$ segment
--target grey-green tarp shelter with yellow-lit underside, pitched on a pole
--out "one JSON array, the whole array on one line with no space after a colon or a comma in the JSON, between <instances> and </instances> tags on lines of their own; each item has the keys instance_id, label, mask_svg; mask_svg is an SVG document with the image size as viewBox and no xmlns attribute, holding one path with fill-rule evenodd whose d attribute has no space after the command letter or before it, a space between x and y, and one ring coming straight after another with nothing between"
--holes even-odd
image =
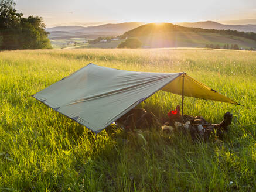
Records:
<instances>
[{"instance_id":1,"label":"grey-green tarp shelter with yellow-lit underside, pitched on a pole","mask_svg":"<svg viewBox=\"0 0 256 192\"><path fill-rule=\"evenodd\" d=\"M148 73L88 64L33 97L95 133L156 91L238 104L186 73Z\"/></svg>"}]
</instances>

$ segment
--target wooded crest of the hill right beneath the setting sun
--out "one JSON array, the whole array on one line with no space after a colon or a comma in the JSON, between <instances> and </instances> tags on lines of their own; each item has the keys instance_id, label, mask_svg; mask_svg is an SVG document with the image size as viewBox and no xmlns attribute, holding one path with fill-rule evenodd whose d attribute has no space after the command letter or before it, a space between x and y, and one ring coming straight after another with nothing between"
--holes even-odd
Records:
<instances>
[{"instance_id":1,"label":"wooded crest of the hill right beneath the setting sun","mask_svg":"<svg viewBox=\"0 0 256 192\"><path fill-rule=\"evenodd\" d=\"M172 23L150 23L139 26L138 28L129 30L120 36L121 39L126 37L144 37L153 33L168 33L168 32L194 32L194 33L219 33L222 35L234 35L256 40L256 33L253 32L238 32L237 30L218 30L218 29L202 29L202 28L187 28Z\"/></svg>"}]
</instances>

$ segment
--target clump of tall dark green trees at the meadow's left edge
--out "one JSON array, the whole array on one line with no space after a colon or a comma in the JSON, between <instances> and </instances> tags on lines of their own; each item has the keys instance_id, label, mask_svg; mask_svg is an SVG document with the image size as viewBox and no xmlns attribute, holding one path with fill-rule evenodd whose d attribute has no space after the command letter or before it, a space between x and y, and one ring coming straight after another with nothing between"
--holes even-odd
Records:
<instances>
[{"instance_id":1,"label":"clump of tall dark green trees at the meadow's left edge","mask_svg":"<svg viewBox=\"0 0 256 192\"><path fill-rule=\"evenodd\" d=\"M14 7L13 0L0 0L0 50L49 49L49 33L42 18L24 18Z\"/></svg>"}]
</instances>

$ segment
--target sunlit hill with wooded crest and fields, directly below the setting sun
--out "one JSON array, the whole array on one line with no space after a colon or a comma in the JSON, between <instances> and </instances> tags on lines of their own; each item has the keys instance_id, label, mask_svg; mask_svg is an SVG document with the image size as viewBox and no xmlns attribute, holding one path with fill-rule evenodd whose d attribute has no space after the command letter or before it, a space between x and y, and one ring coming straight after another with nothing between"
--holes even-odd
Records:
<instances>
[{"instance_id":1,"label":"sunlit hill with wooded crest and fields, directly below the setting sun","mask_svg":"<svg viewBox=\"0 0 256 192\"><path fill-rule=\"evenodd\" d=\"M125 32L122 39L136 37L142 47L205 47L206 44L238 44L256 47L256 34L231 30L187 28L172 23L151 23Z\"/></svg>"}]
</instances>

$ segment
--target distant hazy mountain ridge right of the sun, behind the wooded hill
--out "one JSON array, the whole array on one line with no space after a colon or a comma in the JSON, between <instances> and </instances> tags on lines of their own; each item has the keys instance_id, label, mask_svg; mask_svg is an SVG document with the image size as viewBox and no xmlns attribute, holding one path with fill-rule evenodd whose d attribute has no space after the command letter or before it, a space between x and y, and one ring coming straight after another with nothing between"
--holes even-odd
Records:
<instances>
[{"instance_id":1,"label":"distant hazy mountain ridge right of the sun, behind the wooded hill","mask_svg":"<svg viewBox=\"0 0 256 192\"><path fill-rule=\"evenodd\" d=\"M224 25L221 23L213 22L213 21L205 21L205 22L183 22L183 23L175 23L176 25L185 26L189 28L203 28L203 29L230 29L230 30L238 30L240 32L256 32L256 25Z\"/></svg>"}]
</instances>

